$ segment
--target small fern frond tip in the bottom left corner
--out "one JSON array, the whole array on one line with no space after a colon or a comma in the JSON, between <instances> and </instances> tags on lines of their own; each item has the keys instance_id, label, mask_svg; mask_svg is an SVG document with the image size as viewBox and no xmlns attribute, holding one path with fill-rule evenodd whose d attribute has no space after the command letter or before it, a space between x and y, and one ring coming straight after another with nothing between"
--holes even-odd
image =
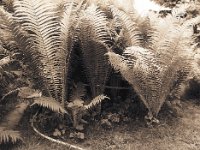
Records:
<instances>
[{"instance_id":1,"label":"small fern frond tip in the bottom left corner","mask_svg":"<svg viewBox=\"0 0 200 150\"><path fill-rule=\"evenodd\" d=\"M22 141L19 131L7 130L4 127L0 127L0 144L8 142L16 143L18 141Z\"/></svg>"}]
</instances>

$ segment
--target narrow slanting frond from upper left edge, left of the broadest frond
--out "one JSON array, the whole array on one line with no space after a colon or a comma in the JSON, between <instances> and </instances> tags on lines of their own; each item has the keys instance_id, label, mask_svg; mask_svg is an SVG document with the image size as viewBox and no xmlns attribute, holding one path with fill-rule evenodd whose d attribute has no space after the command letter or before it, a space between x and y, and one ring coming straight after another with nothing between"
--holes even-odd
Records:
<instances>
[{"instance_id":1,"label":"narrow slanting frond from upper left edge, left of the broadest frond","mask_svg":"<svg viewBox=\"0 0 200 150\"><path fill-rule=\"evenodd\" d=\"M32 73L37 75L35 76L36 78L39 76L39 81L37 82L40 82L41 90L48 93L48 85L45 82L46 79L41 71L40 54L34 49L27 50L27 45L30 45L30 41L28 40L28 31L23 30L23 27L14 19L12 14L6 12L4 9L0 9L0 13L3 25L5 26L6 30L10 32L10 38L14 41L14 48L19 49L20 52L24 54L24 62L31 66L31 69L33 70Z\"/></svg>"}]
</instances>

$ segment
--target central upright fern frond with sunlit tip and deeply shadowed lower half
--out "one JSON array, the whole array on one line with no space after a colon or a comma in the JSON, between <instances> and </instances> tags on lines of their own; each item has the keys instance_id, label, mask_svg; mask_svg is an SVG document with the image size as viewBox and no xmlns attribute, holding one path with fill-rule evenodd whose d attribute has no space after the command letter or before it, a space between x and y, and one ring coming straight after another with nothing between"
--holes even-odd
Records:
<instances>
[{"instance_id":1,"label":"central upright fern frond with sunlit tip and deeply shadowed lower half","mask_svg":"<svg viewBox=\"0 0 200 150\"><path fill-rule=\"evenodd\" d=\"M109 64L104 56L108 52L110 36L107 32L108 21L105 14L97 6L91 5L84 12L79 35L86 76L93 97L104 91L109 75ZM100 85L100 87L96 87Z\"/></svg>"}]
</instances>

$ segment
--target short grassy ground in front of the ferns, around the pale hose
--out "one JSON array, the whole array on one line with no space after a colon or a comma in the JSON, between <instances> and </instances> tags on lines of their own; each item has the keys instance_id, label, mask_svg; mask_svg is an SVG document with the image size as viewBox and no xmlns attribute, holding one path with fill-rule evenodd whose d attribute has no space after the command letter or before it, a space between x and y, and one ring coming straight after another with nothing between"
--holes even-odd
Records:
<instances>
[{"instance_id":1,"label":"short grassy ground in front of the ferns, around the pale hose","mask_svg":"<svg viewBox=\"0 0 200 150\"><path fill-rule=\"evenodd\" d=\"M200 103L184 101L181 117L160 113L160 124L146 127L141 120L116 124L110 129L89 127L84 141L68 141L85 150L200 150ZM25 144L17 150L67 150L68 147L24 131Z\"/></svg>"}]
</instances>

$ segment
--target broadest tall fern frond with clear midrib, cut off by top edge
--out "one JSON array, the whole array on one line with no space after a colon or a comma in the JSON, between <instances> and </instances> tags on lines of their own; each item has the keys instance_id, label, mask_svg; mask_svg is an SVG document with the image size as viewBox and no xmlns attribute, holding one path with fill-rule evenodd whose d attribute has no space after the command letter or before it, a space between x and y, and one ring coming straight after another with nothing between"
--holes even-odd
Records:
<instances>
[{"instance_id":1,"label":"broadest tall fern frond with clear midrib, cut off by top edge","mask_svg":"<svg viewBox=\"0 0 200 150\"><path fill-rule=\"evenodd\" d=\"M16 22L29 33L29 37L23 41L24 51L32 54L34 63L38 64L39 76L43 77L50 96L61 100L64 60L59 47L61 41L56 6L50 0L22 0L15 1L14 10Z\"/></svg>"}]
</instances>

